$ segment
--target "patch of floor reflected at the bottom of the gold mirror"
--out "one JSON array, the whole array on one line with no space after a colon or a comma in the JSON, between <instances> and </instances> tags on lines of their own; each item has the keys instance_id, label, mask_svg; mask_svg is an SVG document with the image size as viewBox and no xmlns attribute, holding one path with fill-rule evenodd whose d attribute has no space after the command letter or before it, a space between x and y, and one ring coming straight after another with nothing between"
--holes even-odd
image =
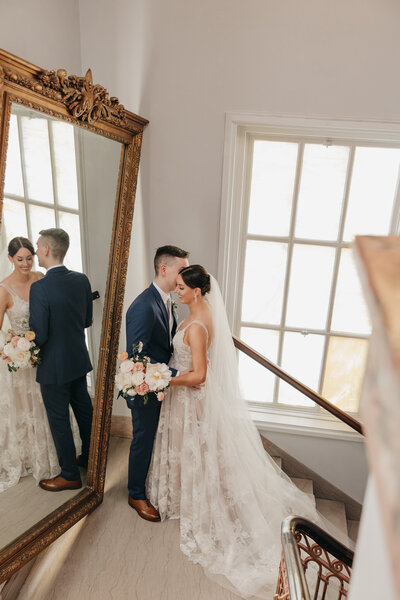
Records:
<instances>
[{"instance_id":1,"label":"patch of floor reflected at the bottom of the gold mirror","mask_svg":"<svg viewBox=\"0 0 400 600\"><path fill-rule=\"evenodd\" d=\"M85 486L85 469L81 469L81 478ZM0 494L0 548L36 525L80 491L46 492L38 486L32 475L21 477L16 485Z\"/></svg>"}]
</instances>

